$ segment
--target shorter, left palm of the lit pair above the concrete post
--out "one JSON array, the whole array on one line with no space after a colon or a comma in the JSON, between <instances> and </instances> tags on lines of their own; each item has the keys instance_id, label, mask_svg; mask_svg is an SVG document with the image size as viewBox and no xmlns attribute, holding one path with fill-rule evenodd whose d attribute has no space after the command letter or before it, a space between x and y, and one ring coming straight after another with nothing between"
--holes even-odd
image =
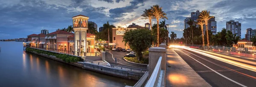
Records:
<instances>
[{"instance_id":1,"label":"shorter, left palm of the lit pair above the concrete post","mask_svg":"<svg viewBox=\"0 0 256 87\"><path fill-rule=\"evenodd\" d=\"M144 13L141 15L142 17L144 17L144 19L149 20L149 24L150 24L150 29L152 31L153 34L153 29L152 29L152 24L151 24L151 20L154 19L153 14L151 12L151 9L145 9L145 11L143 11ZM154 46L154 42L152 42L152 45Z\"/></svg>"}]
</instances>

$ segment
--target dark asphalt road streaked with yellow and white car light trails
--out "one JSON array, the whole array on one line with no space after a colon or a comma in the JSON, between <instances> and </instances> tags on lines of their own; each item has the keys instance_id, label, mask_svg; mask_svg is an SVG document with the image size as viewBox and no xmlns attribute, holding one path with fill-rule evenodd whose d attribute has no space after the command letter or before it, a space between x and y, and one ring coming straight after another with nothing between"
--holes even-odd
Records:
<instances>
[{"instance_id":1,"label":"dark asphalt road streaked with yellow and white car light trails","mask_svg":"<svg viewBox=\"0 0 256 87\"><path fill-rule=\"evenodd\" d=\"M174 48L174 51L212 87L256 87L253 60L239 63L197 50Z\"/></svg>"}]
</instances>

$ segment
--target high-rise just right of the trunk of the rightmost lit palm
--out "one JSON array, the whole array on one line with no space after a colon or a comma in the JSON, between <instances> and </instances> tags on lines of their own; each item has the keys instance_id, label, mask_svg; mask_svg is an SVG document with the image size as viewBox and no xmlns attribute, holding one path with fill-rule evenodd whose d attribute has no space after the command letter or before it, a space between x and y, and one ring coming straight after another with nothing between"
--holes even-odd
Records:
<instances>
[{"instance_id":1,"label":"high-rise just right of the trunk of the rightmost lit palm","mask_svg":"<svg viewBox=\"0 0 256 87\"><path fill-rule=\"evenodd\" d=\"M207 26L208 26L208 30L212 31L213 35L217 34L217 22L215 21L215 17L209 19ZM206 31L206 27L204 25L204 33L205 31Z\"/></svg>"}]
</instances>

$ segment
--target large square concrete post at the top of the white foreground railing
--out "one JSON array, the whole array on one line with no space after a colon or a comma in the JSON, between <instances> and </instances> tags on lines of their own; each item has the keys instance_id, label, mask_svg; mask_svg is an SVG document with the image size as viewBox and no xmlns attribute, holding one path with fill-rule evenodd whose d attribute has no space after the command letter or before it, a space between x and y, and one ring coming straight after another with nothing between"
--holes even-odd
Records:
<instances>
[{"instance_id":1,"label":"large square concrete post at the top of the white foreground railing","mask_svg":"<svg viewBox=\"0 0 256 87\"><path fill-rule=\"evenodd\" d=\"M149 61L148 61L148 77L154 71L157 61L162 56L161 69L166 71L166 48L154 47L149 48Z\"/></svg>"}]
</instances>

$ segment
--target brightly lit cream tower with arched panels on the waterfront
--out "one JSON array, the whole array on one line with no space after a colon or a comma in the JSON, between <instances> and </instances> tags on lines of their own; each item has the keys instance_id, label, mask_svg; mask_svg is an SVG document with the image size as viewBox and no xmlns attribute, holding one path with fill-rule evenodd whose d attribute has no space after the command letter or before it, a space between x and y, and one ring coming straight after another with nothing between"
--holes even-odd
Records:
<instances>
[{"instance_id":1,"label":"brightly lit cream tower with arched panels on the waterfront","mask_svg":"<svg viewBox=\"0 0 256 87\"><path fill-rule=\"evenodd\" d=\"M80 14L72 17L72 19L73 19L74 40L75 40L74 47L75 47L76 54L77 52L79 52L79 56L86 56L86 53L84 54L84 52L87 51L86 31L88 29L89 17Z\"/></svg>"}]
</instances>

